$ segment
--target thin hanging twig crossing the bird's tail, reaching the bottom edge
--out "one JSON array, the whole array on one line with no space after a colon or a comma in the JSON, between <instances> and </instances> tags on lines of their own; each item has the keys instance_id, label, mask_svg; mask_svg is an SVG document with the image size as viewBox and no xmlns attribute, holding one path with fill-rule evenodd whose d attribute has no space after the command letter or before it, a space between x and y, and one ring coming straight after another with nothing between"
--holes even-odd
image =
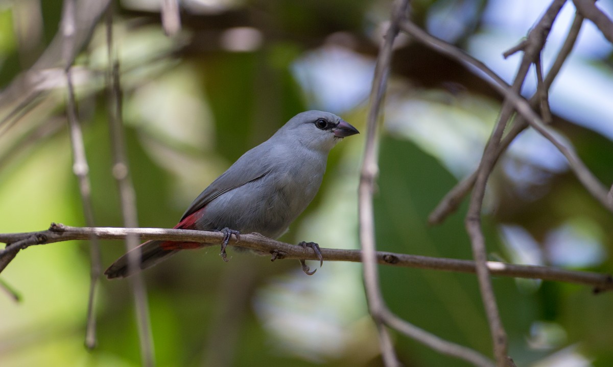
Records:
<instances>
[{"instance_id":1,"label":"thin hanging twig crossing the bird's tail, reaching the bottom edge","mask_svg":"<svg viewBox=\"0 0 613 367\"><path fill-rule=\"evenodd\" d=\"M120 194L121 214L123 223L127 228L137 228L139 226L136 210L136 194L134 185L130 177L128 158L126 155L126 144L123 133L123 119L121 116L121 85L119 62L113 48L113 17L112 9L109 9L106 17L107 30L107 97L109 109L109 130L111 145L113 150L113 177L116 180ZM140 261L140 251L131 251L139 245L139 236L126 236L126 251L128 251L128 268L137 269ZM151 321L149 317L149 306L147 302L147 289L145 281L140 273L136 273L131 278L132 293L134 294L134 305L139 331L140 355L142 365L153 367L155 365L155 354L153 346L153 336L151 335Z\"/></svg>"}]
</instances>

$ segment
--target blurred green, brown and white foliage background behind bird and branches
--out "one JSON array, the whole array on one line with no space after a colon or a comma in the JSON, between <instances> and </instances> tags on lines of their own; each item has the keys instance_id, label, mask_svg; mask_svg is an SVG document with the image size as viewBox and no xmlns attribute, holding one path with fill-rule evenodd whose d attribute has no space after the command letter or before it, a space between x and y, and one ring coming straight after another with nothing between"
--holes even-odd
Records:
<instances>
[{"instance_id":1,"label":"blurred green, brown and white foliage background behind bird and branches","mask_svg":"<svg viewBox=\"0 0 613 367\"><path fill-rule=\"evenodd\" d=\"M140 226L171 228L201 190L294 114L324 109L364 130L378 43L390 1L186 0L183 29L167 37L159 1L114 2L123 116ZM597 2L613 12L613 2ZM460 46L511 81L520 55L501 54L549 5L543 0L413 1L417 24ZM7 91L58 32L62 2L0 2L2 118ZM574 15L558 17L543 54L547 70ZM75 61L78 111L96 223L121 226L104 93L104 23ZM550 91L553 125L604 184L613 182L612 45L588 21ZM49 65L49 75L61 64ZM54 69L55 68L55 69ZM524 94L535 91L531 73ZM17 89L15 89L17 88ZM0 125L0 232L52 221L84 224L61 78L41 83L20 118ZM8 99L7 99L8 98ZM7 102L7 100L9 102ZM401 37L386 98L375 198L378 248L468 259L466 203L440 226L427 216L476 168L501 97L445 57ZM9 122L7 122L9 121ZM364 134L330 155L324 183L281 240L358 248L357 184ZM579 184L561 154L527 130L490 179L484 229L491 259L613 272L611 213ZM86 242L22 251L0 278L1 366L137 366L139 341L129 282L102 280L98 343L83 347L89 283ZM102 242L103 265L123 243ZM298 262L230 250L185 251L145 272L160 366L381 366L359 264ZM312 266L315 264L313 263ZM390 308L443 338L490 355L473 275L381 267ZM613 295L564 283L495 278L518 366L613 365ZM402 335L406 366L465 366Z\"/></svg>"}]
</instances>

